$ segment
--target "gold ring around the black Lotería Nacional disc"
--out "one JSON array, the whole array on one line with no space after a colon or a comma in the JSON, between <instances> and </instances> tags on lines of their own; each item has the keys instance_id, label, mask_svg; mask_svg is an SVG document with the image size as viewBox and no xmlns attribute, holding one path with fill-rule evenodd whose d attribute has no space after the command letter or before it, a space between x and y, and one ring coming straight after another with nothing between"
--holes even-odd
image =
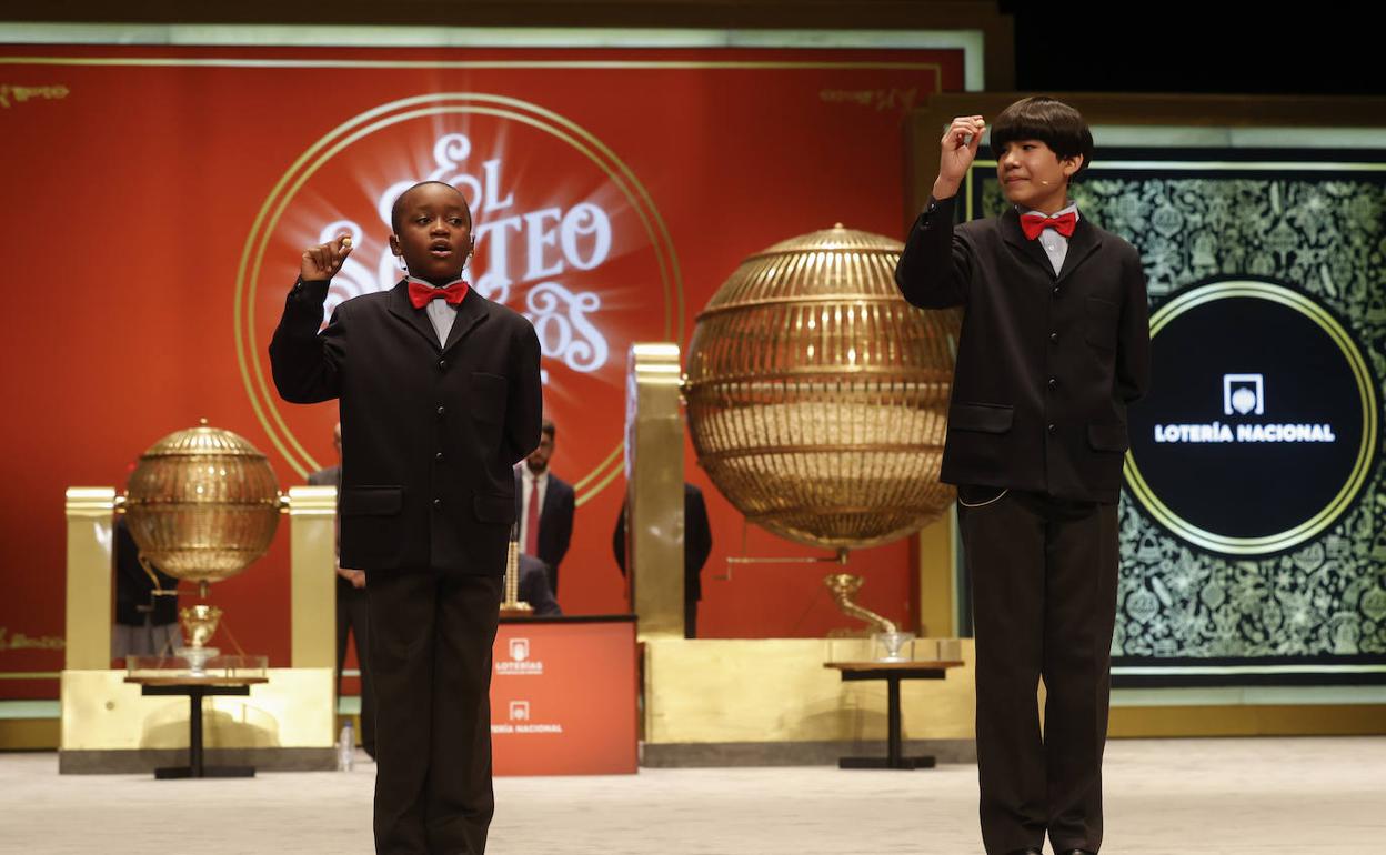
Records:
<instances>
[{"instance_id":1,"label":"gold ring around the black Loter\u00eda Nacional disc","mask_svg":"<svg viewBox=\"0 0 1386 855\"><path fill-rule=\"evenodd\" d=\"M1362 405L1362 441L1357 449L1357 460L1353 463L1353 470L1343 482L1343 486L1328 504L1299 525L1274 535L1263 535L1258 538L1231 538L1193 525L1161 502L1141 475L1141 470L1137 466L1135 457L1130 449L1125 453L1123 473L1127 478L1127 486L1145 507L1146 513L1155 517L1161 525L1174 532L1177 536L1211 552L1234 556L1257 556L1281 552L1319 535L1324 529L1332 525L1349 506L1351 506L1357 493L1367 482L1367 475L1371 471L1372 460L1376 452L1376 387L1372 382L1371 373L1367 369L1367 360L1362 359L1361 351L1357 349L1357 344L1347 334L1347 330L1337 323L1337 319L1304 294L1274 283L1258 280L1229 280L1192 288L1191 291L1186 291L1164 303L1155 312L1153 316L1150 316L1150 338L1153 340L1160 330L1168 326L1168 323L1179 315L1218 299L1231 298L1264 299L1295 309L1318 324L1318 327L1328 334L1333 344L1337 345L1339 351L1342 351L1343 358L1347 360L1347 364L1353 371L1353 380L1357 382L1357 391L1358 395L1361 395Z\"/></svg>"}]
</instances>

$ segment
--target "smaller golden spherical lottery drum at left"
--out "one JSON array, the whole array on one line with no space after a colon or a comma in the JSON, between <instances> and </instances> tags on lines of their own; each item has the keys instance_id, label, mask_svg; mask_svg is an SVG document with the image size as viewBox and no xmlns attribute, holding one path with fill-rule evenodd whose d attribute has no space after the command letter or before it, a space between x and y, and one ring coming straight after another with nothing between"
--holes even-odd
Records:
<instances>
[{"instance_id":1,"label":"smaller golden spherical lottery drum at left","mask_svg":"<svg viewBox=\"0 0 1386 855\"><path fill-rule=\"evenodd\" d=\"M140 455L125 496L126 524L140 553L190 582L227 579L263 556L280 507L265 455L205 418Z\"/></svg>"}]
</instances>

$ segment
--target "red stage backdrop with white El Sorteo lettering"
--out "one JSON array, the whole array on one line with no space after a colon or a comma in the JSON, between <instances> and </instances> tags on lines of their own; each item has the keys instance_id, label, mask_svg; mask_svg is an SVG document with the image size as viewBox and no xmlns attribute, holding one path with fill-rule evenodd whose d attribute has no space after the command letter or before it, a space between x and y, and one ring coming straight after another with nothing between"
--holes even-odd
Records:
<instances>
[{"instance_id":1,"label":"red stage backdrop with white El Sorteo lettering","mask_svg":"<svg viewBox=\"0 0 1386 855\"><path fill-rule=\"evenodd\" d=\"M42 54L42 55L39 55ZM388 285L388 206L441 177L473 200L470 279L529 315L578 485L561 604L628 608L611 558L624 492L626 349L686 345L736 265L836 222L901 237L905 111L962 86L962 51L309 50L7 47L7 312L0 358L0 673L55 671L62 495L116 485L165 434L207 417L270 457L284 489L331 463L333 403L269 391L265 345L299 249L356 234L331 301ZM22 91L22 97L18 94ZM847 625L821 568L735 554L804 550L708 500L701 635ZM287 528L287 520L286 520ZM247 649L287 665L287 535L213 586ZM862 552L861 601L912 622L909 547ZM47 639L47 642L46 642ZM49 644L49 647L44 647ZM0 680L0 697L55 697Z\"/></svg>"}]
</instances>

